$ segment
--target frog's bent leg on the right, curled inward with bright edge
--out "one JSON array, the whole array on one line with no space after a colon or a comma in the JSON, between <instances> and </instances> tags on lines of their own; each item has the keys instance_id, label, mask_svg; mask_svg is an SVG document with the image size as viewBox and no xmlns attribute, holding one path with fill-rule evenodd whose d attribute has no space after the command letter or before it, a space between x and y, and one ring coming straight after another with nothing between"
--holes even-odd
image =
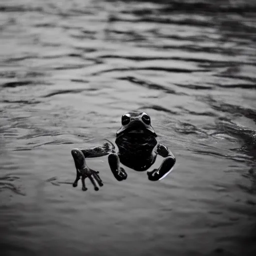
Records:
<instances>
[{"instance_id":1,"label":"frog's bent leg on the right, curled inward with bright edge","mask_svg":"<svg viewBox=\"0 0 256 256\"><path fill-rule=\"evenodd\" d=\"M157 144L155 152L164 157L164 159L158 169L147 171L148 179L152 181L164 178L168 173L171 172L176 162L175 156L169 151L169 149L165 145L161 143Z\"/></svg>"}]
</instances>

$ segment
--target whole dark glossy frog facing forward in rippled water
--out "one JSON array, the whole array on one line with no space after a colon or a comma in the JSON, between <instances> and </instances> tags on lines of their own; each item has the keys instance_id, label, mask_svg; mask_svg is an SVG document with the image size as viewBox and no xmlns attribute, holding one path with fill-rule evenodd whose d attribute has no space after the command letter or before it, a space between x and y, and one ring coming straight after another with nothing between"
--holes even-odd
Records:
<instances>
[{"instance_id":1,"label":"whole dark glossy frog facing forward in rippled water","mask_svg":"<svg viewBox=\"0 0 256 256\"><path fill-rule=\"evenodd\" d=\"M99 186L103 185L98 175L99 172L89 168L85 162L87 157L103 155L108 155L110 169L114 177L121 181L126 179L127 174L120 163L136 171L144 171L154 163L157 154L159 154L164 157L160 167L147 171L147 175L148 179L152 181L164 178L172 170L176 159L166 146L156 141L156 136L148 114L135 111L123 114L121 127L117 130L115 139L118 152L107 139L108 142L103 143L102 146L71 150L76 167L76 178L73 186L77 186L77 181L81 178L82 190L87 190L84 182L86 177L90 179L95 190L98 190L96 183Z\"/></svg>"}]
</instances>

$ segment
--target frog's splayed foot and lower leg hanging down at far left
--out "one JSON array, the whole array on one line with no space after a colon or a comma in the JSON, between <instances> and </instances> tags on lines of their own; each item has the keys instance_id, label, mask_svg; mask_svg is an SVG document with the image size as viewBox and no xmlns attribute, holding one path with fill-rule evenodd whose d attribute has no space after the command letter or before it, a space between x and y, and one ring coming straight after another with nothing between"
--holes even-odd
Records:
<instances>
[{"instance_id":1,"label":"frog's splayed foot and lower leg hanging down at far left","mask_svg":"<svg viewBox=\"0 0 256 256\"><path fill-rule=\"evenodd\" d=\"M87 187L85 186L85 178L87 177L92 185L94 186L94 190L98 190L98 186L96 182L98 183L99 186L103 185L103 182L101 178L98 175L98 171L90 169L86 163L85 163L85 157L83 152L80 149L72 149L71 154L74 158L74 163L76 167L76 178L73 182L73 187L77 186L78 180L81 178L82 182L82 190L86 191Z\"/></svg>"}]
</instances>

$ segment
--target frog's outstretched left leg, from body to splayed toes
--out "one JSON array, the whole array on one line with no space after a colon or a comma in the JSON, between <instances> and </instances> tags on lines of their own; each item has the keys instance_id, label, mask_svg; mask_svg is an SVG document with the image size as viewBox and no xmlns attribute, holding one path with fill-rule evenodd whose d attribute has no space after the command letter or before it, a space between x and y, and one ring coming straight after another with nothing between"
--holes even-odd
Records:
<instances>
[{"instance_id":1,"label":"frog's outstretched left leg, from body to splayed toes","mask_svg":"<svg viewBox=\"0 0 256 256\"><path fill-rule=\"evenodd\" d=\"M87 190L85 186L85 178L88 177L91 183L93 184L94 189L98 190L96 182L98 183L99 186L102 186L103 182L98 175L98 171L95 171L86 165L85 158L103 156L112 152L114 152L114 145L111 142L110 143L106 142L106 143L103 143L102 146L94 146L94 147L89 147L87 149L79 149L79 148L72 149L71 154L73 156L74 164L76 168L76 178L73 182L73 186L74 187L77 186L77 181L81 178L82 190L84 191Z\"/></svg>"}]
</instances>

